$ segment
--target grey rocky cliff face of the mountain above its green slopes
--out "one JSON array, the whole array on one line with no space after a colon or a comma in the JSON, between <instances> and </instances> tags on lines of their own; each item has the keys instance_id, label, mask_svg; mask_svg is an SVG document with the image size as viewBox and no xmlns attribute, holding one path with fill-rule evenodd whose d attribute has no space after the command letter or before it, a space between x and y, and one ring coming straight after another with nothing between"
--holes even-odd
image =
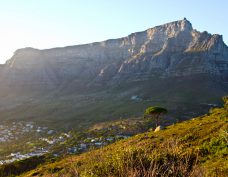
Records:
<instances>
[{"instance_id":1,"label":"grey rocky cliff face of the mountain above its green slopes","mask_svg":"<svg viewBox=\"0 0 228 177\"><path fill-rule=\"evenodd\" d=\"M228 47L221 35L198 32L183 19L104 42L19 49L0 67L0 87L67 89L198 74L225 82Z\"/></svg>"}]
</instances>

